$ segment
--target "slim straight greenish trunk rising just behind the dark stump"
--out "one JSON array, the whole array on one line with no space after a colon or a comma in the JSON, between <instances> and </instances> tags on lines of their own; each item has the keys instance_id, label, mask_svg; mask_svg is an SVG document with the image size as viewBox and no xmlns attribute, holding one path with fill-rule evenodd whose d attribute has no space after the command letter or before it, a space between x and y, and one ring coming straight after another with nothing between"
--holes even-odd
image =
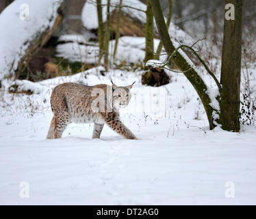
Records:
<instances>
[{"instance_id":1,"label":"slim straight greenish trunk rising just behind the dark stump","mask_svg":"<svg viewBox=\"0 0 256 219\"><path fill-rule=\"evenodd\" d=\"M147 61L153 60L154 58L154 16L151 8L150 0L147 1L147 9L146 9L146 52L145 52L145 60Z\"/></svg>"}]
</instances>

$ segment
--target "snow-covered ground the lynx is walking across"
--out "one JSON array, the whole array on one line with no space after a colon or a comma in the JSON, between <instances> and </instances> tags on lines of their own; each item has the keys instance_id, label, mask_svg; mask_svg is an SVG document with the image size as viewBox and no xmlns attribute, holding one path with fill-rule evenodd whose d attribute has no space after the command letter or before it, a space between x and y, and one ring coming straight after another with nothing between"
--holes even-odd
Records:
<instances>
[{"instance_id":1,"label":"snow-covered ground the lynx is walking across","mask_svg":"<svg viewBox=\"0 0 256 219\"><path fill-rule=\"evenodd\" d=\"M198 96L181 74L160 88L141 72L90 72L31 83L35 93L0 92L1 205L255 205L256 129L208 130ZM86 75L86 78L84 77ZM51 88L64 81L118 85L137 81L125 125L139 140L109 127L92 140L92 124L68 126L46 140ZM209 80L205 75L205 80ZM195 119L199 118L199 119Z\"/></svg>"}]
</instances>

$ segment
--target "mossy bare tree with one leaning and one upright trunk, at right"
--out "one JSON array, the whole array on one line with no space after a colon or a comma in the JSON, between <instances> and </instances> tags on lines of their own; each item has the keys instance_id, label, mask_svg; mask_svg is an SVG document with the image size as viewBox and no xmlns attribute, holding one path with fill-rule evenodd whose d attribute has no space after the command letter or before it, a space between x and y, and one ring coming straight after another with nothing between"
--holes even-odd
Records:
<instances>
[{"instance_id":1,"label":"mossy bare tree with one leaning and one upright trunk, at right","mask_svg":"<svg viewBox=\"0 0 256 219\"><path fill-rule=\"evenodd\" d=\"M242 49L240 42L242 28L240 27L240 25L242 22L243 1L226 0L226 3L232 3L235 6L235 20L225 21L225 40L223 46L224 60L222 63L222 75L220 81L221 84L218 79L216 79L215 75L209 70L209 68L207 68L203 60L201 60L201 57L199 57L196 51L192 49L192 47L188 47L186 45L180 45L179 47L174 46L174 44L170 40L168 29L166 28L166 24L164 22L164 16L159 0L150 1L153 14L155 16L155 21L157 23L159 36L163 42L166 53L170 57L169 60L175 62L175 64L181 69L185 77L188 78L196 92L199 94L203 106L205 107L205 112L209 120L210 129L213 129L214 127L216 127L216 125L220 125L223 129L227 131L240 131L238 123L240 106L240 53ZM237 27L238 29L234 30L234 27ZM183 47L190 49L192 53L194 53L194 55L196 55L199 61L203 64L203 66L205 66L207 72L213 77L216 85L218 86L217 95L212 96L211 91L208 89L207 85L200 77L199 73L196 72L195 68L192 66L185 54L182 53L182 51L179 51L179 49ZM229 50L231 50L231 53L235 53L235 60L233 60L233 58L229 60L229 55L231 55ZM166 64L168 64L168 62L166 62ZM232 64L234 65L233 67L231 67ZM235 73L233 73L232 70L234 70ZM234 88L231 88L231 86L234 86Z\"/></svg>"}]
</instances>

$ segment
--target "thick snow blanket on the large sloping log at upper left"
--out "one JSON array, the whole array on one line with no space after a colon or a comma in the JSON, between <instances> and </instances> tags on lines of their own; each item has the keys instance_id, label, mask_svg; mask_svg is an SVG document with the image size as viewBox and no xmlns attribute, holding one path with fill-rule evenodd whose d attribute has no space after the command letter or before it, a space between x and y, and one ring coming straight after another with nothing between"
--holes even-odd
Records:
<instances>
[{"instance_id":1,"label":"thick snow blanket on the large sloping log at upper left","mask_svg":"<svg viewBox=\"0 0 256 219\"><path fill-rule=\"evenodd\" d=\"M14 74L31 40L53 26L61 2L38 0L35 4L34 0L27 0L24 5L23 0L16 0L1 12L0 81ZM29 20L24 20L23 13Z\"/></svg>"}]
</instances>

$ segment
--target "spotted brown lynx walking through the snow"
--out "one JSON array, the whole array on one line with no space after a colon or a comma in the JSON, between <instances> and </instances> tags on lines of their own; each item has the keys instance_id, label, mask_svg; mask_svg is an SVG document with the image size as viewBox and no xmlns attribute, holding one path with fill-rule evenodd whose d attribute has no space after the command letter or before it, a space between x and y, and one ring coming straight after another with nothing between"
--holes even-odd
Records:
<instances>
[{"instance_id":1,"label":"spotted brown lynx walking through the snow","mask_svg":"<svg viewBox=\"0 0 256 219\"><path fill-rule=\"evenodd\" d=\"M118 87L99 84L85 86L78 83L62 83L53 89L51 109L53 119L47 139L62 138L70 123L94 123L92 138L100 138L106 123L110 128L127 139L137 140L120 121L119 110L128 105L133 84Z\"/></svg>"}]
</instances>

